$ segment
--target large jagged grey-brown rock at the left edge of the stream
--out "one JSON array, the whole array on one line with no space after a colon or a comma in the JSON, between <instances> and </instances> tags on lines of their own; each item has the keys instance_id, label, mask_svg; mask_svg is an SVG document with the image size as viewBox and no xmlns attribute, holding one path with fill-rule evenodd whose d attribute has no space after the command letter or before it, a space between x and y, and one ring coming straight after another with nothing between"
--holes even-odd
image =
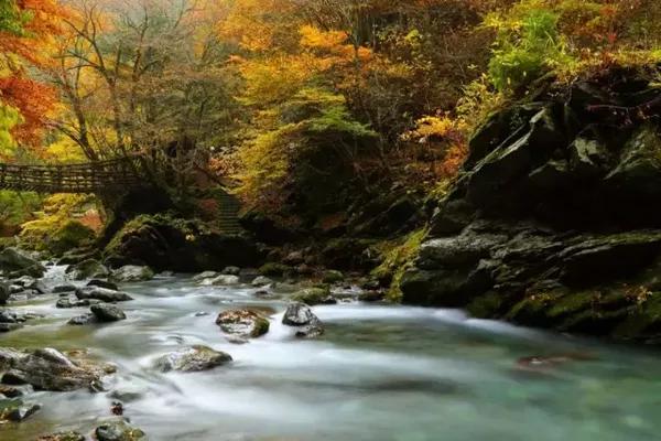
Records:
<instances>
[{"instance_id":1,"label":"large jagged grey-brown rock at the left edge of the stream","mask_svg":"<svg viewBox=\"0 0 661 441\"><path fill-rule=\"evenodd\" d=\"M0 348L2 383L31 385L37 390L67 391L87 388L112 372L110 365L71 357L53 348L18 351Z\"/></svg>"}]
</instances>

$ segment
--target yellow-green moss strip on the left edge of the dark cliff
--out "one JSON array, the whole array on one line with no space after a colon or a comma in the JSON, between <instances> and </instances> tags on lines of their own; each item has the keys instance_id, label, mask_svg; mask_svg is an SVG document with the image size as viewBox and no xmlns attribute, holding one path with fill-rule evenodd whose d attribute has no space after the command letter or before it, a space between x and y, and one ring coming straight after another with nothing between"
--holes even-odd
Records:
<instances>
[{"instance_id":1,"label":"yellow-green moss strip on the left edge of the dark cliff","mask_svg":"<svg viewBox=\"0 0 661 441\"><path fill-rule=\"evenodd\" d=\"M407 269L413 263L418 251L427 235L427 229L418 229L398 241L381 245L382 263L377 267L371 276L381 281L390 281L387 299L391 302L401 302L402 291L400 283Z\"/></svg>"}]
</instances>

